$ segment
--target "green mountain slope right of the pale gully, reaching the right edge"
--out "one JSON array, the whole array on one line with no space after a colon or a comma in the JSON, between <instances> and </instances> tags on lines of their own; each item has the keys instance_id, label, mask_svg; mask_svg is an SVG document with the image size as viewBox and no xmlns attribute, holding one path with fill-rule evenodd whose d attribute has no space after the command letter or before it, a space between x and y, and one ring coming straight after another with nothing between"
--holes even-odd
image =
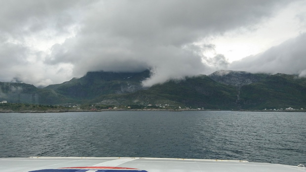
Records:
<instances>
[{"instance_id":1,"label":"green mountain slope right of the pale gully, reaching the right edge","mask_svg":"<svg viewBox=\"0 0 306 172\"><path fill-rule=\"evenodd\" d=\"M242 86L243 109L280 109L306 107L306 79L294 75L270 75L257 83Z\"/></svg>"}]
</instances>

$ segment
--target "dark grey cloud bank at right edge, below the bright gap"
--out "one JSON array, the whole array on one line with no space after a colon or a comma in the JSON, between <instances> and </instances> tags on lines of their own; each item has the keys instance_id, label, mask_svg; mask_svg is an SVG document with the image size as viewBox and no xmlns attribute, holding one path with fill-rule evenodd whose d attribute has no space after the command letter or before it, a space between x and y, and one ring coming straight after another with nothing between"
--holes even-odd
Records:
<instances>
[{"instance_id":1,"label":"dark grey cloud bank at right edge, below the bright gap","mask_svg":"<svg viewBox=\"0 0 306 172\"><path fill-rule=\"evenodd\" d=\"M249 72L285 73L306 76L306 33L256 56L230 64L230 69Z\"/></svg>"}]
</instances>

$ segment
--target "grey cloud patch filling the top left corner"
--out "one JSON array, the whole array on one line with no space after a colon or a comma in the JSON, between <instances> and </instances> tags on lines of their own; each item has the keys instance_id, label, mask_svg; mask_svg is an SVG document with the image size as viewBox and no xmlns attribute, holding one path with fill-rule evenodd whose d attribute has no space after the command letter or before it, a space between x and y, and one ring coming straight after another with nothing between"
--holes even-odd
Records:
<instances>
[{"instance_id":1,"label":"grey cloud patch filling the top left corner","mask_svg":"<svg viewBox=\"0 0 306 172\"><path fill-rule=\"evenodd\" d=\"M46 28L62 32L76 22L72 12L82 4L79 0L1 0L0 31L11 36Z\"/></svg>"}]
</instances>

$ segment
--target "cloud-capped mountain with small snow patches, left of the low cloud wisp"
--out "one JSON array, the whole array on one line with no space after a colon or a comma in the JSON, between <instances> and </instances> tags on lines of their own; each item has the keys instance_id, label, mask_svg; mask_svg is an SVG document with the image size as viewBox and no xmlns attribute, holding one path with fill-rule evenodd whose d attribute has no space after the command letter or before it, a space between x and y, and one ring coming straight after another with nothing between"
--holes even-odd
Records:
<instances>
[{"instance_id":1,"label":"cloud-capped mountain with small snow patches, left of the low cloud wisp","mask_svg":"<svg viewBox=\"0 0 306 172\"><path fill-rule=\"evenodd\" d=\"M82 78L46 86L44 89L82 102L101 95L124 94L144 89L141 82L149 76L149 70L139 73L88 72Z\"/></svg>"}]
</instances>

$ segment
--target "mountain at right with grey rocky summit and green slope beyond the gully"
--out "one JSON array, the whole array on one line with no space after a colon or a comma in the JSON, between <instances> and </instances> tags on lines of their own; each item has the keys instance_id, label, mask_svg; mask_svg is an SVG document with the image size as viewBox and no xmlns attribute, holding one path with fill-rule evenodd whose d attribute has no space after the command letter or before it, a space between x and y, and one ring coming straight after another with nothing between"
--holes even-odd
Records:
<instances>
[{"instance_id":1,"label":"mountain at right with grey rocky summit and green slope beyond the gully","mask_svg":"<svg viewBox=\"0 0 306 172\"><path fill-rule=\"evenodd\" d=\"M216 71L214 81L236 86L239 109L281 109L306 106L306 78L286 74L252 74L242 71Z\"/></svg>"}]
</instances>

